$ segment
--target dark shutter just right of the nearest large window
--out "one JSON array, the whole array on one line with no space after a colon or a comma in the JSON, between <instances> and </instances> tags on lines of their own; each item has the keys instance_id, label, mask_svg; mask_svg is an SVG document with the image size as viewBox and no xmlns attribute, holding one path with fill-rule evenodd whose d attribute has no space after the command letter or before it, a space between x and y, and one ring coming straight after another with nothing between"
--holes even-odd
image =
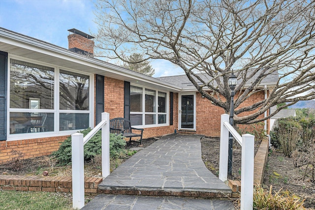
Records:
<instances>
[{"instance_id":1,"label":"dark shutter just right of the nearest large window","mask_svg":"<svg viewBox=\"0 0 315 210\"><path fill-rule=\"evenodd\" d=\"M104 112L104 76L96 74L96 113L95 124L97 125L102 119L102 112Z\"/></svg>"}]
</instances>

